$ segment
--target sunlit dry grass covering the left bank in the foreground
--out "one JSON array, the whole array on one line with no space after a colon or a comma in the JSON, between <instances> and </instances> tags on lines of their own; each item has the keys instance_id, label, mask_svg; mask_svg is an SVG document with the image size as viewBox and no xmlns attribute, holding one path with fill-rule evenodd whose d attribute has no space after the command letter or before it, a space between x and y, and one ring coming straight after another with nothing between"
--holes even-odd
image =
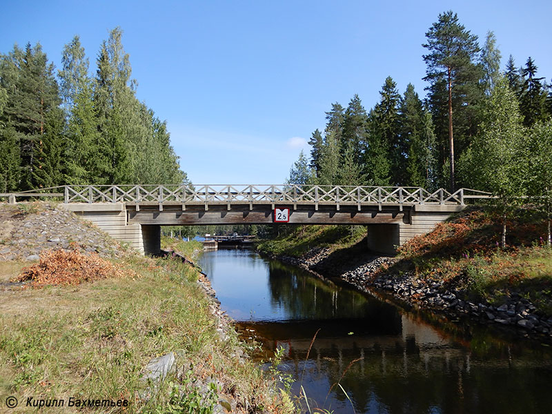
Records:
<instances>
[{"instance_id":1,"label":"sunlit dry grass covering the left bank in the foreground","mask_svg":"<svg viewBox=\"0 0 552 414\"><path fill-rule=\"evenodd\" d=\"M180 247L188 253L201 248L193 242ZM27 397L66 400L63 408L42 408L45 413L74 412L69 397L126 399L129 413L209 413L226 395L253 412L285 412L275 408L282 397L259 369L235 356L237 335L220 339L196 269L179 259L132 255L111 262L124 274L23 290L5 282L25 264L0 263L0 411L14 395L19 405L12 413L30 410ZM145 400L151 384L140 380L144 368L168 352L176 355L177 371ZM225 386L201 400L199 385L209 384L208 377Z\"/></svg>"}]
</instances>

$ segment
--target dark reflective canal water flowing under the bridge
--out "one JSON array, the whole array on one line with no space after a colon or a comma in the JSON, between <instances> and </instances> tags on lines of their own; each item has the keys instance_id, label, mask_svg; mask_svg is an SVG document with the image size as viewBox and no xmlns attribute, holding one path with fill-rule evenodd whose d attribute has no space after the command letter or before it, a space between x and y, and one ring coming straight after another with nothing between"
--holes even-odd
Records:
<instances>
[{"instance_id":1,"label":"dark reflective canal water flowing under the bridge","mask_svg":"<svg viewBox=\"0 0 552 414\"><path fill-rule=\"evenodd\" d=\"M552 413L551 348L407 313L250 250L206 252L201 267L262 357L284 348L279 368L313 413Z\"/></svg>"}]
</instances>

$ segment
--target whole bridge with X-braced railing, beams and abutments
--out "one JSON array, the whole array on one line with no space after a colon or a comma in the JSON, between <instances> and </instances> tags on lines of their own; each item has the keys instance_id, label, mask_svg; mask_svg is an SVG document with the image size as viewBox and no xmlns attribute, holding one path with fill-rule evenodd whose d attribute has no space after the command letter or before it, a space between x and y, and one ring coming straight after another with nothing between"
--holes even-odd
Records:
<instances>
[{"instance_id":1,"label":"whole bridge with X-braced railing, beams and abutments","mask_svg":"<svg viewBox=\"0 0 552 414\"><path fill-rule=\"evenodd\" d=\"M469 200L491 195L466 188L186 184L58 186L0 197L60 201L142 253L159 251L160 226L289 223L365 225L368 248L391 254Z\"/></svg>"}]
</instances>

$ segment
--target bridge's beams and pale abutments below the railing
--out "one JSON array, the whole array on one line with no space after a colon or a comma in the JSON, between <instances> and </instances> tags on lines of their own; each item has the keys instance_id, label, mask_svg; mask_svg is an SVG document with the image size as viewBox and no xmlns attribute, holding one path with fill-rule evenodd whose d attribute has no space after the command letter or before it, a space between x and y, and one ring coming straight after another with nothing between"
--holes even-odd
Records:
<instances>
[{"instance_id":1,"label":"bridge's beams and pale abutments below the railing","mask_svg":"<svg viewBox=\"0 0 552 414\"><path fill-rule=\"evenodd\" d=\"M226 204L209 206L141 204L65 204L68 210L81 215L105 230L115 239L128 242L142 253L157 253L160 249L160 226L206 226L224 224L274 224L273 206ZM392 255L415 235L430 231L451 213L462 210L458 205L403 206L286 206L290 208L289 224L364 225L368 228L368 248Z\"/></svg>"}]
</instances>

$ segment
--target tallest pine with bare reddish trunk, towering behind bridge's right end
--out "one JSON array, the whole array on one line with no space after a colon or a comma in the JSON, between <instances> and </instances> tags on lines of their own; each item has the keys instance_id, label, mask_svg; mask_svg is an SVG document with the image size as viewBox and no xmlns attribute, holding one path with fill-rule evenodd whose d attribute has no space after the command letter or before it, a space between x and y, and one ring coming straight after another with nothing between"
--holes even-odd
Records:
<instances>
[{"instance_id":1,"label":"tallest pine with bare reddish trunk, towering behind bridge's right end","mask_svg":"<svg viewBox=\"0 0 552 414\"><path fill-rule=\"evenodd\" d=\"M424 55L427 64L424 80L437 82L446 81L448 92L449 119L449 164L450 186L455 188L455 148L453 135L453 89L459 84L469 83L473 79L475 68L473 59L479 52L477 36L471 34L458 22L457 14L452 11L439 14L439 20L426 32L428 55ZM479 79L477 79L479 81Z\"/></svg>"}]
</instances>

